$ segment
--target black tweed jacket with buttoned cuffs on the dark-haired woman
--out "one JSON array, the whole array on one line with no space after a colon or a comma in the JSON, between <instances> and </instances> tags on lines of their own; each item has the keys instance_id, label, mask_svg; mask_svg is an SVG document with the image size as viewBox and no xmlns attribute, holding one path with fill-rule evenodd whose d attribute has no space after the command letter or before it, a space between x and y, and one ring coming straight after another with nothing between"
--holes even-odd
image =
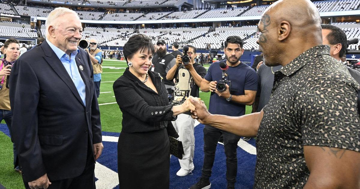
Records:
<instances>
[{"instance_id":1,"label":"black tweed jacket with buttoned cuffs on the dark-haired woman","mask_svg":"<svg viewBox=\"0 0 360 189\"><path fill-rule=\"evenodd\" d=\"M163 78L149 71L158 93L143 84L129 68L113 85L116 102L122 112L122 132L149 132L167 128L168 135L178 138L171 121L172 104L169 104Z\"/></svg>"}]
</instances>

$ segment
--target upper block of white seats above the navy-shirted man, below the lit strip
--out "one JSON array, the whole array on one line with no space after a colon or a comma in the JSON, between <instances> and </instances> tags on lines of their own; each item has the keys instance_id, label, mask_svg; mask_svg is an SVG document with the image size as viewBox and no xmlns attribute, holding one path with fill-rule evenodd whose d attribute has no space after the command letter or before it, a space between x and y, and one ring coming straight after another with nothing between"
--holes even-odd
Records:
<instances>
[{"instance_id":1,"label":"upper block of white seats above the navy-shirted man, below the lit strip","mask_svg":"<svg viewBox=\"0 0 360 189\"><path fill-rule=\"evenodd\" d=\"M247 10L249 6L237 7L234 9L231 8L220 8L212 9L203 15L200 15L198 18L218 18L218 17L236 17L239 14Z\"/></svg>"}]
</instances>

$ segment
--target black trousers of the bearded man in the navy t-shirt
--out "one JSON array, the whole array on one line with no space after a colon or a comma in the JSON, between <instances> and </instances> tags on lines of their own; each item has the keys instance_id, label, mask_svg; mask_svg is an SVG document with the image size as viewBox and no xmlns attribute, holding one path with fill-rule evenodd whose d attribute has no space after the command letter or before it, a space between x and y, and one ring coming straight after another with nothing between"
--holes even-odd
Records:
<instances>
[{"instance_id":1,"label":"black trousers of the bearded man in the navy t-shirt","mask_svg":"<svg viewBox=\"0 0 360 189\"><path fill-rule=\"evenodd\" d=\"M216 129L209 125L205 125L203 132L204 163L201 176L205 179L210 178L211 169L215 159L217 141L219 141L219 138L222 135L222 137L224 138L224 149L226 156L226 180L228 181L228 185L234 186L238 170L236 149L238 147L238 141L240 140L240 136Z\"/></svg>"}]
</instances>

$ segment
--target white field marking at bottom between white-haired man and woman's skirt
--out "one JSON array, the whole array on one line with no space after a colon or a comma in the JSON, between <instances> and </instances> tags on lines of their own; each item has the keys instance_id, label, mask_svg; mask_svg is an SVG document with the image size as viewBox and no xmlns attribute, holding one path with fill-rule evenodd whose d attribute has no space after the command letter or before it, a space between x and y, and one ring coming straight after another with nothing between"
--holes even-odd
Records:
<instances>
[{"instance_id":1,"label":"white field marking at bottom between white-haired man and woman's skirt","mask_svg":"<svg viewBox=\"0 0 360 189\"><path fill-rule=\"evenodd\" d=\"M117 172L101 165L99 162L95 163L95 177L98 179L95 182L98 189L113 189L119 184Z\"/></svg>"}]
</instances>

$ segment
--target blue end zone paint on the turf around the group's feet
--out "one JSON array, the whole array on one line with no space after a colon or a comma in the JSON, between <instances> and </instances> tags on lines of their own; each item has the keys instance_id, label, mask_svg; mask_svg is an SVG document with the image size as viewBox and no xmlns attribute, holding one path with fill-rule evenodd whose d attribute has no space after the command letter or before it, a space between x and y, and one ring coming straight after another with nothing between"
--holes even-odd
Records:
<instances>
[{"instance_id":1,"label":"blue end zone paint on the turf around the group's feet","mask_svg":"<svg viewBox=\"0 0 360 189\"><path fill-rule=\"evenodd\" d=\"M204 125L199 124L195 127L195 154L193 175L176 176L176 172L180 169L179 161L176 157L172 156L170 159L170 189L188 189L191 185L195 184L196 179L201 176L201 168L203 164L203 128ZM0 124L0 131L9 136L9 130L6 124ZM103 132L103 136L119 136L117 132ZM255 139L247 141L255 147ZM104 141L104 150L98 163L110 168L117 172L117 143ZM254 184L254 173L256 155L252 155L244 151L242 148L237 149L238 157L238 174L237 189L250 189ZM96 175L95 175L96 176ZM97 179L96 179L97 180ZM224 146L217 145L215 162L212 168L212 176L210 177L211 188L222 189L226 188L226 157ZM115 188L118 188L116 186Z\"/></svg>"}]
</instances>

